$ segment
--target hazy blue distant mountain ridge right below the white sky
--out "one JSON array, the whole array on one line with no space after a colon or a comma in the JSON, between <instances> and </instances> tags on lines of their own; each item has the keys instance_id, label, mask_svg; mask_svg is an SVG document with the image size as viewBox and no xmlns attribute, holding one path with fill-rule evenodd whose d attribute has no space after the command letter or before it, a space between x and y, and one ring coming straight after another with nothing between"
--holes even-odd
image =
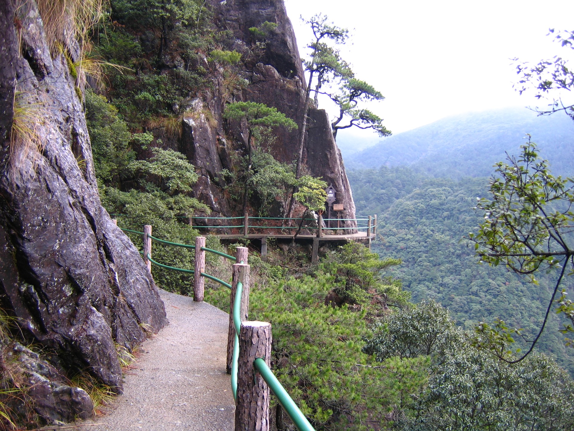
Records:
<instances>
[{"instance_id":1,"label":"hazy blue distant mountain ridge right below the white sky","mask_svg":"<svg viewBox=\"0 0 574 431\"><path fill-rule=\"evenodd\" d=\"M574 122L560 113L537 116L519 107L443 118L343 156L348 170L408 166L441 178L489 176L506 152L519 153L526 133L554 174L574 174Z\"/></svg>"}]
</instances>

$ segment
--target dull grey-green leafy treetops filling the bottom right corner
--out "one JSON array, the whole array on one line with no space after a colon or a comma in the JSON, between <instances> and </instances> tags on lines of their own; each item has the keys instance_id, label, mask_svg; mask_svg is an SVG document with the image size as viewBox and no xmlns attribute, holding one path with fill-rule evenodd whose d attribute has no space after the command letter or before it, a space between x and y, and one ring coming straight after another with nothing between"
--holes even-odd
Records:
<instances>
[{"instance_id":1,"label":"dull grey-green leafy treetops filling the bottom right corner","mask_svg":"<svg viewBox=\"0 0 574 431\"><path fill-rule=\"evenodd\" d=\"M364 351L378 360L430 357L425 390L413 394L403 430L569 430L572 380L552 359L536 355L507 364L472 347L440 304L422 302L387 314Z\"/></svg>"}]
</instances>

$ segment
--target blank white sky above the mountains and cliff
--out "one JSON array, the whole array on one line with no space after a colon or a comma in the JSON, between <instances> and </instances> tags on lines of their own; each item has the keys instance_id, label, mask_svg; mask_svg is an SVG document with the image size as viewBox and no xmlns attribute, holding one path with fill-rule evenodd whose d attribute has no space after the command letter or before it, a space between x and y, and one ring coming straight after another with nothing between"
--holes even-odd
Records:
<instances>
[{"instance_id":1,"label":"blank white sky above the mountains and cliff","mask_svg":"<svg viewBox=\"0 0 574 431\"><path fill-rule=\"evenodd\" d=\"M301 55L311 32L299 19L327 14L351 30L342 47L355 76L385 101L369 106L394 134L467 111L543 106L518 95L511 58L536 64L573 56L546 36L574 29L574 1L531 0L285 0ZM352 45L351 45L352 44ZM322 108L328 109L323 102ZM358 129L355 129L358 130ZM360 134L373 138L376 134Z\"/></svg>"}]
</instances>

